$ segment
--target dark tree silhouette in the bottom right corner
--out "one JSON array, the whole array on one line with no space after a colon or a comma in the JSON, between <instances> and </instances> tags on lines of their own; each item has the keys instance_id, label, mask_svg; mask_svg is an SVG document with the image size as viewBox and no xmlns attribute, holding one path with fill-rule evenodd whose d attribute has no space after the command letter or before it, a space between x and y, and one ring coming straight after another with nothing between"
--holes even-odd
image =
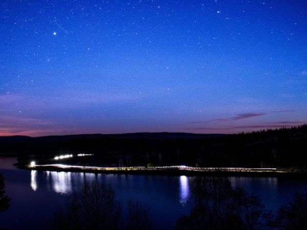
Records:
<instances>
[{"instance_id":1,"label":"dark tree silhouette in the bottom right corner","mask_svg":"<svg viewBox=\"0 0 307 230\"><path fill-rule=\"evenodd\" d=\"M292 200L276 212L279 229L307 229L307 193L295 192Z\"/></svg>"}]
</instances>

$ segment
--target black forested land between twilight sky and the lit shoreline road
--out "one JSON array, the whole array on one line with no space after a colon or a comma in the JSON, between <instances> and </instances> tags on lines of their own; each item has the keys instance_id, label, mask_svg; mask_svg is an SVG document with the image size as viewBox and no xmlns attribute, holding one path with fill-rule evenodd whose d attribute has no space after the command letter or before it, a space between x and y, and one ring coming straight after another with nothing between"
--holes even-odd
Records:
<instances>
[{"instance_id":1,"label":"black forested land between twilight sky and the lit shoreline road","mask_svg":"<svg viewBox=\"0 0 307 230\"><path fill-rule=\"evenodd\" d=\"M307 125L232 135L131 133L7 137L0 152L44 159L60 154L94 154L63 159L93 166L186 165L199 167L274 167L306 171Z\"/></svg>"}]
</instances>

